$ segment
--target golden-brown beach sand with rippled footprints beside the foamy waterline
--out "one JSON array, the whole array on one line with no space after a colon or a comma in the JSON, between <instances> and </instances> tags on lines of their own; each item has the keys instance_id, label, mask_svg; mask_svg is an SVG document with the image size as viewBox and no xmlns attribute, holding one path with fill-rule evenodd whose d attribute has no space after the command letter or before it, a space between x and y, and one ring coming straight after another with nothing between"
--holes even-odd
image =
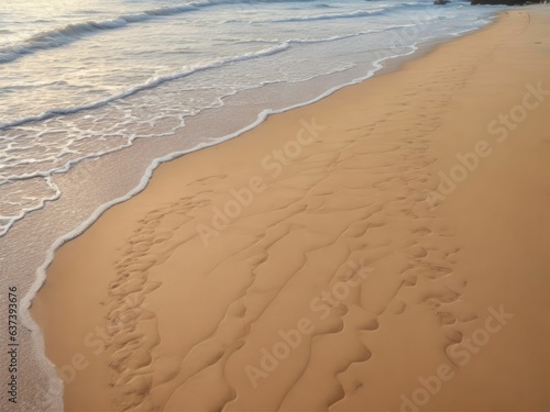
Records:
<instances>
[{"instance_id":1,"label":"golden-brown beach sand with rippled footprints beside the foamy waterline","mask_svg":"<svg viewBox=\"0 0 550 412\"><path fill-rule=\"evenodd\" d=\"M34 301L66 410L550 410L549 23L161 166Z\"/></svg>"}]
</instances>

